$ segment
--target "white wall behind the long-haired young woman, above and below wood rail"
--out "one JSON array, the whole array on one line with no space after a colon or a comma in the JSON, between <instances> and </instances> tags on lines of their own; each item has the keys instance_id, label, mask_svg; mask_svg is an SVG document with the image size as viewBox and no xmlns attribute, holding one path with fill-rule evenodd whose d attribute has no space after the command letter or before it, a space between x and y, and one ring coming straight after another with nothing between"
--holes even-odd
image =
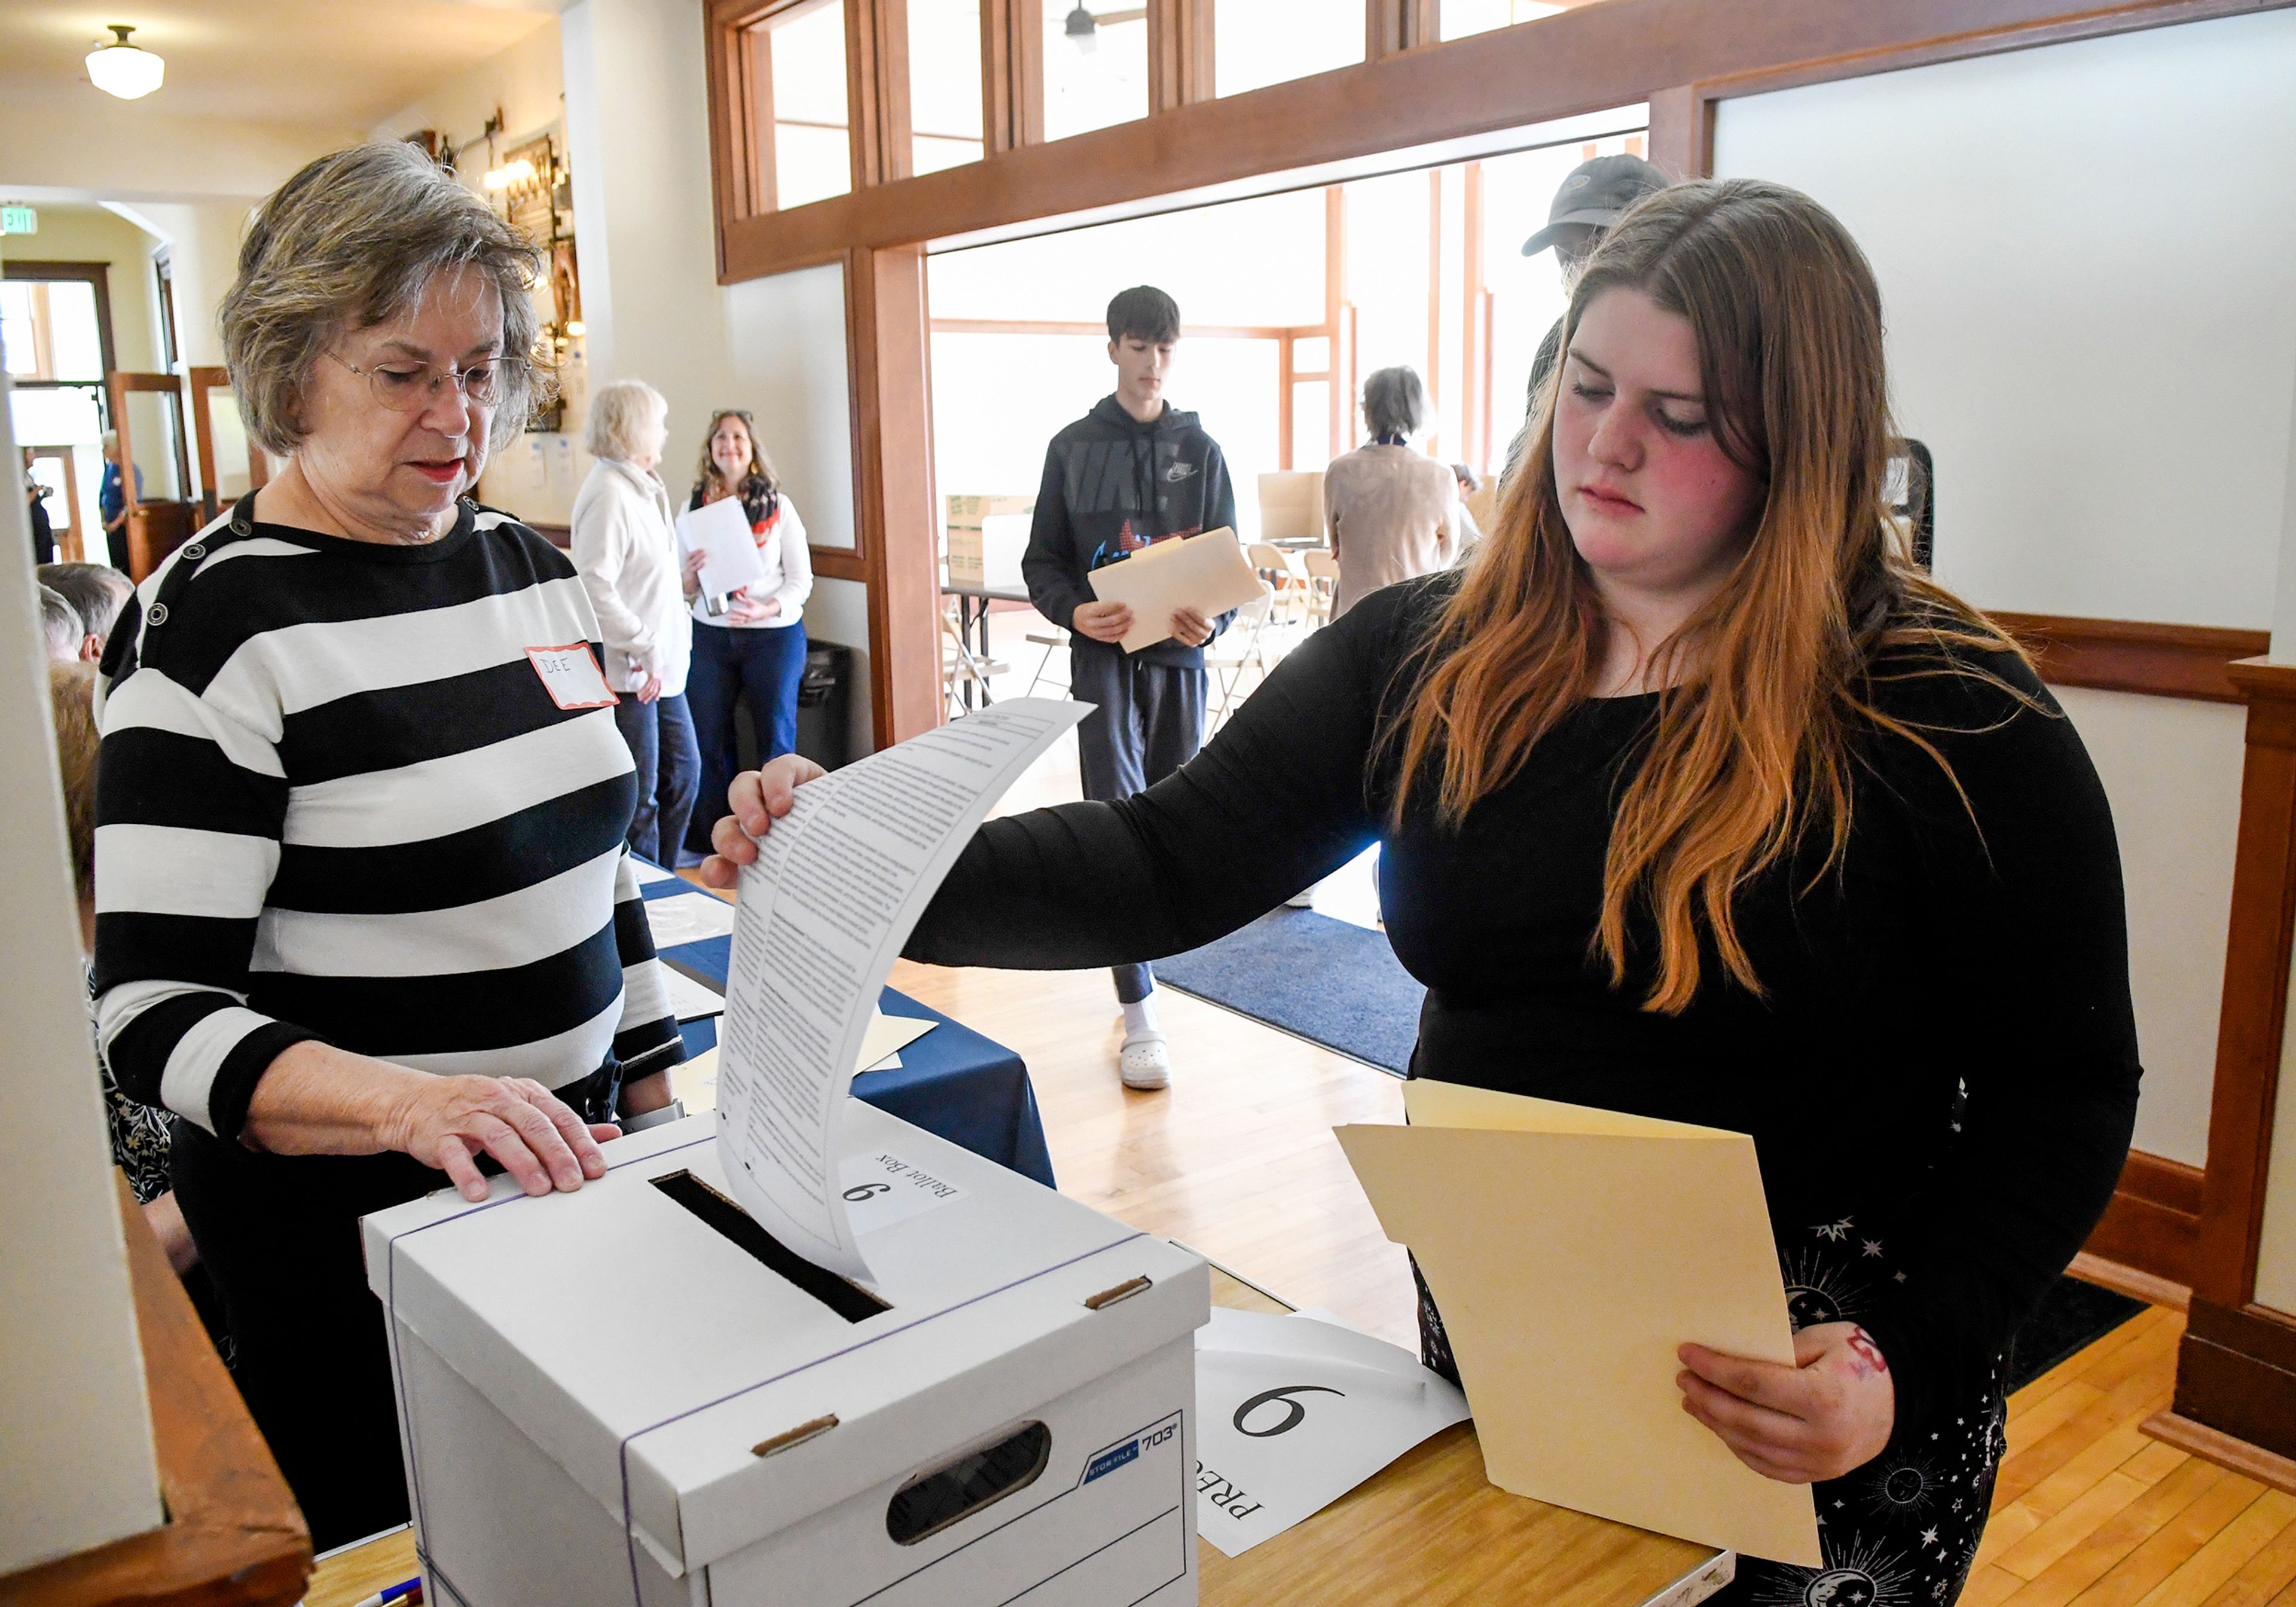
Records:
<instances>
[{"instance_id":1,"label":"white wall behind the long-haired young woman, above and below wood rail","mask_svg":"<svg viewBox=\"0 0 2296 1607\"><path fill-rule=\"evenodd\" d=\"M1986 608L2268 627L2296 406L2296 11L1722 101L1880 278L1938 576ZM2112 799L2144 1093L2204 1164L2241 712L2064 691Z\"/></svg>"}]
</instances>

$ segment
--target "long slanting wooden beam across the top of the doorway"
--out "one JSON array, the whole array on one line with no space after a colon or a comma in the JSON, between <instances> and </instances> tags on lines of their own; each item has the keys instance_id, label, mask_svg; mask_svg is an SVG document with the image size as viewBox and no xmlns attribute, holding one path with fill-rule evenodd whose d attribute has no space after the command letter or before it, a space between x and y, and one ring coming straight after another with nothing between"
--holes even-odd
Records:
<instances>
[{"instance_id":1,"label":"long slanting wooden beam across the top of the doorway","mask_svg":"<svg viewBox=\"0 0 2296 1607\"><path fill-rule=\"evenodd\" d=\"M1382 48L1362 64L1173 106L1054 145L1017 140L978 163L870 184L785 214L728 218L723 278L778 273L856 246L905 246L1520 129L1630 106L1678 85L1697 85L1711 101L1768 87L1763 73L1846 78L1915 60L1988 55L2291 2L1906 0L1883 7L1761 0L1733 7L1727 25L1717 25L1711 0L1609 0L1412 46L1407 30L1426 7L1373 0L1366 18ZM1031 39L1042 48L1038 37L1013 25L1024 11L1019 0L1006 7L1008 55ZM1382 30L1384 16L1391 30ZM1394 51L1384 48L1389 32Z\"/></svg>"}]
</instances>

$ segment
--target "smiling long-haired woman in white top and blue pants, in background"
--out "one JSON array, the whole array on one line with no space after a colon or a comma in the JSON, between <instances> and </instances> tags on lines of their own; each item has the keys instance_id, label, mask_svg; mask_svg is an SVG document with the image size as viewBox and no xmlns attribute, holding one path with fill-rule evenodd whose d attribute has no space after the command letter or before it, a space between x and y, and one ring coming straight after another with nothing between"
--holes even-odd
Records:
<instances>
[{"instance_id":1,"label":"smiling long-haired woman in white top and blue pants, in background","mask_svg":"<svg viewBox=\"0 0 2296 1607\"><path fill-rule=\"evenodd\" d=\"M700 471L687 507L737 500L758 542L765 574L714 597L703 592L703 558L687 556L687 606L693 613L693 730L703 748L703 792L687 843L709 849L709 826L723 815L735 758L735 700L746 691L758 723L758 758L797 751L797 686L806 675L806 599L813 595L813 553L806 521L781 489L774 461L758 445L755 420L744 409L709 418Z\"/></svg>"}]
</instances>

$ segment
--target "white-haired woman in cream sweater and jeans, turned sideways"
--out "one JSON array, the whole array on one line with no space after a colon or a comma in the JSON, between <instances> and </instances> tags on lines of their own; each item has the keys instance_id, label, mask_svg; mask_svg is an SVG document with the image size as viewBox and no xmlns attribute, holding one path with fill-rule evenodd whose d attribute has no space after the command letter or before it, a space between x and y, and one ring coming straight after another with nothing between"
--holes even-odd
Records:
<instances>
[{"instance_id":1,"label":"white-haired woman in cream sweater and jeans, turned sideways","mask_svg":"<svg viewBox=\"0 0 2296 1607\"><path fill-rule=\"evenodd\" d=\"M638 764L629 852L675 868L700 755L687 714L693 627L677 581L670 494L654 473L670 438L668 411L643 379L618 379L590 397L585 445L597 464L574 498L574 567L606 643L606 684L622 696L613 723Z\"/></svg>"}]
</instances>

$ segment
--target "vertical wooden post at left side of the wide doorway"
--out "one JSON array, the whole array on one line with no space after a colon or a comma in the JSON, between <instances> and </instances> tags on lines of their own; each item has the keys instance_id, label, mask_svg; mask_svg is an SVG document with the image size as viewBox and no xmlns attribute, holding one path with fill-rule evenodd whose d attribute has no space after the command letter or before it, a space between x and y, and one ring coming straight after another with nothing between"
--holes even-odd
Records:
<instances>
[{"instance_id":1,"label":"vertical wooden post at left side of the wide doorway","mask_svg":"<svg viewBox=\"0 0 2296 1607\"><path fill-rule=\"evenodd\" d=\"M889 748L941 723L941 558L925 388L925 253L845 266L854 406L854 537L868 585L870 719ZM928 466L918 473L918 466Z\"/></svg>"}]
</instances>

